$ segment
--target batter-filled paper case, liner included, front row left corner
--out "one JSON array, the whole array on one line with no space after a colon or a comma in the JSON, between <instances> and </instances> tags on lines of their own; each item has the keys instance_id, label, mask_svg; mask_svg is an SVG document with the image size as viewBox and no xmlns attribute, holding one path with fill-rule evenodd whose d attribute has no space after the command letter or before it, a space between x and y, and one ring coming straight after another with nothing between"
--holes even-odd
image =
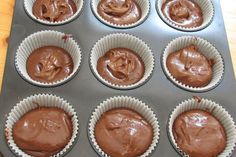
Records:
<instances>
[{"instance_id":1,"label":"batter-filled paper case, liner included, front row left corner","mask_svg":"<svg viewBox=\"0 0 236 157\"><path fill-rule=\"evenodd\" d=\"M38 94L11 110L5 137L16 156L63 156L74 144L78 129L77 114L67 101Z\"/></svg>"}]
</instances>

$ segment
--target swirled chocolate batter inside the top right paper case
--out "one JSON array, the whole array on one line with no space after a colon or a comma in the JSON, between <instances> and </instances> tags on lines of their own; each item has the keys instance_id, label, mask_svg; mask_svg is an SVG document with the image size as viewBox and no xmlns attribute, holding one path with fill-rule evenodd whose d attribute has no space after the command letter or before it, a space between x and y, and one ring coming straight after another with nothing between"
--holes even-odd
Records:
<instances>
[{"instance_id":1,"label":"swirled chocolate batter inside the top right paper case","mask_svg":"<svg viewBox=\"0 0 236 157\"><path fill-rule=\"evenodd\" d=\"M167 0L161 10L166 18L182 27L198 27L203 23L202 10L192 0Z\"/></svg>"}]
</instances>

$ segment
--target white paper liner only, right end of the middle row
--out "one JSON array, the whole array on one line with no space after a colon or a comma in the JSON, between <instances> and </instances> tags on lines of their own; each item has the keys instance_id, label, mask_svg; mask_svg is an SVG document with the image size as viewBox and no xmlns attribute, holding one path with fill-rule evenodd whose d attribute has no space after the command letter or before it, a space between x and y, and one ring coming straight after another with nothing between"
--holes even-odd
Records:
<instances>
[{"instance_id":1,"label":"white paper liner only, right end of the middle row","mask_svg":"<svg viewBox=\"0 0 236 157\"><path fill-rule=\"evenodd\" d=\"M169 72L166 60L170 53L176 52L182 48L185 48L191 44L194 44L198 47L199 51L208 59L214 60L213 66L213 78L211 82L204 87L191 87L189 85L185 85L180 81L176 80L171 73ZM224 74L224 62L223 58L217 49L211 45L208 41L195 36L183 36L172 40L164 50L162 55L162 67L164 69L167 77L177 86L189 90L192 92L204 92L215 88L223 79Z\"/></svg>"}]
</instances>

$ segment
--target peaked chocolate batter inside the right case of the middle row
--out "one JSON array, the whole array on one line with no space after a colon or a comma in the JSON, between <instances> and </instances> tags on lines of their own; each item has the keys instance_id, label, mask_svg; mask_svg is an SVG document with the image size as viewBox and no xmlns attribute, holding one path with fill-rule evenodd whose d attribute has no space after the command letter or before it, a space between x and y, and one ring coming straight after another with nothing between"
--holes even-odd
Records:
<instances>
[{"instance_id":1,"label":"peaked chocolate batter inside the right case of the middle row","mask_svg":"<svg viewBox=\"0 0 236 157\"><path fill-rule=\"evenodd\" d=\"M166 64L176 80L191 87L204 87L213 76L214 61L202 55L195 45L171 53Z\"/></svg>"}]
</instances>

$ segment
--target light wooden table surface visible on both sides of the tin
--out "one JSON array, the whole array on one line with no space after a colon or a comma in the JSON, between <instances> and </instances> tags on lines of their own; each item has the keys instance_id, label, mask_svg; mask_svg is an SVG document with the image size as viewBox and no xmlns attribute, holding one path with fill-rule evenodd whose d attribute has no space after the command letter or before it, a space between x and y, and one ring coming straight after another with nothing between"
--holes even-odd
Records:
<instances>
[{"instance_id":1,"label":"light wooden table surface visible on both sides of the tin","mask_svg":"<svg viewBox=\"0 0 236 157\"><path fill-rule=\"evenodd\" d=\"M1 0L0 3L0 87L7 53L7 40L11 29L15 0ZM235 0L221 0L226 32L229 40L234 72L236 74L236 3ZM1 88L0 88L1 91Z\"/></svg>"}]
</instances>

